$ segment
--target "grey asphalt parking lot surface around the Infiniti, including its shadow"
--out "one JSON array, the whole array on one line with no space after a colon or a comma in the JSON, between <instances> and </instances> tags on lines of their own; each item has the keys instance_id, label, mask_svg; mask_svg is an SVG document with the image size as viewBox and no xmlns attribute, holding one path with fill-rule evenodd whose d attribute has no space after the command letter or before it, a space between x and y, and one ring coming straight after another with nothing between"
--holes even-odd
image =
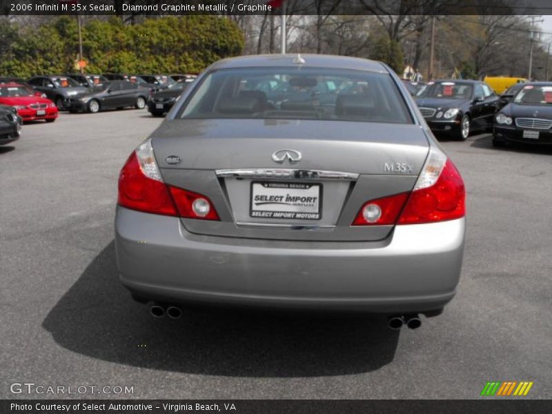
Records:
<instances>
[{"instance_id":1,"label":"grey asphalt parking lot surface around the Infiniti, including its shadow","mask_svg":"<svg viewBox=\"0 0 552 414\"><path fill-rule=\"evenodd\" d=\"M186 311L154 319L119 284L117 177L160 119L63 113L0 147L0 397L10 384L133 386L133 398L552 397L552 150L442 141L466 181L458 293L416 331L381 317ZM336 275L339 277L339 275ZM408 274L404 275L408 278Z\"/></svg>"}]
</instances>

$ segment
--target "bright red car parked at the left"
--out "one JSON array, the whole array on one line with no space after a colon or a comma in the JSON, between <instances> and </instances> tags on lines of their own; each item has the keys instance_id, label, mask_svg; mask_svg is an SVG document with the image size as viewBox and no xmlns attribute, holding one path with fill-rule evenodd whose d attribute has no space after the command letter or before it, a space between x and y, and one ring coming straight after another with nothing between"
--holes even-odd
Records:
<instances>
[{"instance_id":1,"label":"bright red car parked at the left","mask_svg":"<svg viewBox=\"0 0 552 414\"><path fill-rule=\"evenodd\" d=\"M56 120L56 104L41 95L40 92L32 92L19 83L0 83L0 103L16 108L23 122L39 119L46 122Z\"/></svg>"}]
</instances>

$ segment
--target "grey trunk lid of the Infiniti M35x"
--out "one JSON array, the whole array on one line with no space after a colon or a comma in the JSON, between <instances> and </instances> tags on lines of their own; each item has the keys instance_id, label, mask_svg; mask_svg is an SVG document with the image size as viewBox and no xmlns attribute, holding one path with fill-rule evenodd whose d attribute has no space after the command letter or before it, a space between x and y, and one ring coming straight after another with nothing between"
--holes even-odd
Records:
<instances>
[{"instance_id":1,"label":"grey trunk lid of the Infiniti M35x","mask_svg":"<svg viewBox=\"0 0 552 414\"><path fill-rule=\"evenodd\" d=\"M364 202L411 191L428 152L413 124L274 119L168 120L152 146L167 184L217 209L221 221L182 219L191 233L319 241L386 237L393 226L351 223Z\"/></svg>"}]
</instances>

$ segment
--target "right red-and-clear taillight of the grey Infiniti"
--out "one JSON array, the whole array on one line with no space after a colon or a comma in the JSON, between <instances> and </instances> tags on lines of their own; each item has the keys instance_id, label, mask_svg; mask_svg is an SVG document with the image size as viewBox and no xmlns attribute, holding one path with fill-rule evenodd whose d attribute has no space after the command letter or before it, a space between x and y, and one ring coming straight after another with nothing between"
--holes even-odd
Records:
<instances>
[{"instance_id":1,"label":"right red-and-clear taillight of the grey Infiniti","mask_svg":"<svg viewBox=\"0 0 552 414\"><path fill-rule=\"evenodd\" d=\"M366 201L353 226L423 224L466 215L464 181L450 159L431 150L412 193Z\"/></svg>"}]
</instances>

